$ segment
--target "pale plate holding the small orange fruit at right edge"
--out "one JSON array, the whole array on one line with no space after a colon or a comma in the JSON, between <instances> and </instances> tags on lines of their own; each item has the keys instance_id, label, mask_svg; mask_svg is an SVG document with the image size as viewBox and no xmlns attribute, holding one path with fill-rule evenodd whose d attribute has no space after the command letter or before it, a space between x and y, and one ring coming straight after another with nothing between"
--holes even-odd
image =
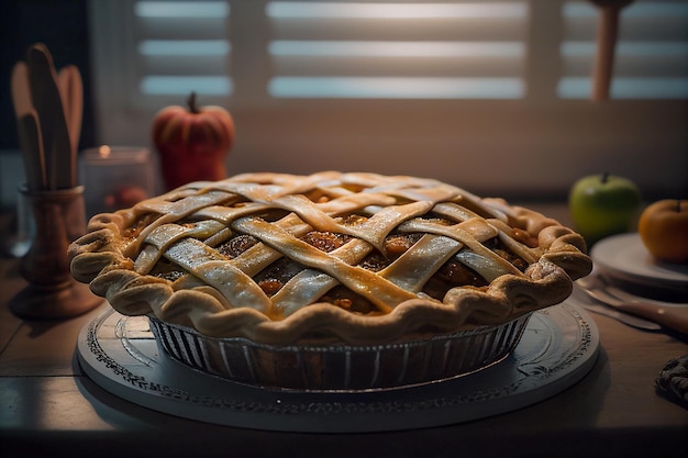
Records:
<instances>
[{"instance_id":1,"label":"pale plate holding the small orange fruit at right edge","mask_svg":"<svg viewBox=\"0 0 688 458\"><path fill-rule=\"evenodd\" d=\"M601 239L592 246L590 257L612 279L653 288L688 289L688 266L656 260L637 233Z\"/></svg>"}]
</instances>

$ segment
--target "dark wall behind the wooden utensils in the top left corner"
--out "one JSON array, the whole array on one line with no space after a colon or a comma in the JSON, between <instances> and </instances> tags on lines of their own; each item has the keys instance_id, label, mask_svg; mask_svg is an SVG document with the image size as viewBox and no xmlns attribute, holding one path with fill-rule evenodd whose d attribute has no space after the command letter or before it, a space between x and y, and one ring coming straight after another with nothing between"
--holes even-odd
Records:
<instances>
[{"instance_id":1,"label":"dark wall behind the wooden utensils in the top left corner","mask_svg":"<svg viewBox=\"0 0 688 458\"><path fill-rule=\"evenodd\" d=\"M12 66L29 46L44 43L59 70L67 64L81 71L85 86L81 145L95 143L90 97L89 29L87 0L3 0L0 13L0 150L16 149L16 123L10 79Z\"/></svg>"}]
</instances>

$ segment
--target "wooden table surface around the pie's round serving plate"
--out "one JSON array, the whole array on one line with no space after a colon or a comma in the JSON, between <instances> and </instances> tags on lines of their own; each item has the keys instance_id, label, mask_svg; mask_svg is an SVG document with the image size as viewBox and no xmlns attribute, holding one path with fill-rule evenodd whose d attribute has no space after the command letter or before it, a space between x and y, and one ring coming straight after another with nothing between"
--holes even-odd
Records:
<instances>
[{"instance_id":1,"label":"wooden table surface around the pie's round serving plate","mask_svg":"<svg viewBox=\"0 0 688 458\"><path fill-rule=\"evenodd\" d=\"M152 411L110 394L75 358L77 336L103 305L56 322L8 309L25 286L0 260L0 456L68 457L686 457L688 410L655 392L677 336L592 315L600 355L554 398L456 425L366 434L297 434L225 427Z\"/></svg>"}]
</instances>

